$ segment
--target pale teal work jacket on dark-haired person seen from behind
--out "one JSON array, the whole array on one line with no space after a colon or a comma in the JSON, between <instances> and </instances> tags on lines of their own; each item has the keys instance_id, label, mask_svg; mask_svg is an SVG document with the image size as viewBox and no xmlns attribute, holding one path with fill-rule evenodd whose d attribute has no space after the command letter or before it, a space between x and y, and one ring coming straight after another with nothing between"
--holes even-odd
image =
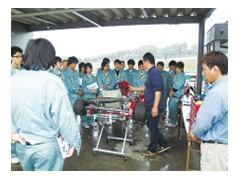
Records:
<instances>
[{"instance_id":1,"label":"pale teal work jacket on dark-haired person seen from behind","mask_svg":"<svg viewBox=\"0 0 240 180\"><path fill-rule=\"evenodd\" d=\"M56 141L57 135L80 151L80 133L66 88L47 71L22 70L11 78L11 132L27 141Z\"/></svg>"}]
</instances>

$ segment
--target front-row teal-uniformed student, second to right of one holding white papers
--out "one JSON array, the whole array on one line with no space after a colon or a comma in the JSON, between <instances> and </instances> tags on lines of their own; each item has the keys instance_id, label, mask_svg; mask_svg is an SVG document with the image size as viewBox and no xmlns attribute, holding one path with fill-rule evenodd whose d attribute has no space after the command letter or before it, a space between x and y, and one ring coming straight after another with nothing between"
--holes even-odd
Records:
<instances>
[{"instance_id":1,"label":"front-row teal-uniformed student, second to right of one holding white papers","mask_svg":"<svg viewBox=\"0 0 240 180\"><path fill-rule=\"evenodd\" d=\"M114 84L116 85L117 83L125 80L127 81L127 76L123 70L121 70L121 61L119 59L116 59L114 61L114 66L115 69L112 70L112 74L114 77ZM118 88L118 86L116 86Z\"/></svg>"}]
</instances>

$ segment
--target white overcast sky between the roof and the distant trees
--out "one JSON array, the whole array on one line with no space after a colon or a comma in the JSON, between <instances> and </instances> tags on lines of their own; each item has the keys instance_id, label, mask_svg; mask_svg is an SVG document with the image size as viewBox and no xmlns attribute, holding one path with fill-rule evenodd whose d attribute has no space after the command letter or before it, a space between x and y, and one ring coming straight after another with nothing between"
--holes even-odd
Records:
<instances>
[{"instance_id":1,"label":"white overcast sky between the roof and the distant trees","mask_svg":"<svg viewBox=\"0 0 240 180\"><path fill-rule=\"evenodd\" d=\"M35 32L49 39L58 56L92 57L143 45L197 44L198 25L142 25Z\"/></svg>"}]
</instances>

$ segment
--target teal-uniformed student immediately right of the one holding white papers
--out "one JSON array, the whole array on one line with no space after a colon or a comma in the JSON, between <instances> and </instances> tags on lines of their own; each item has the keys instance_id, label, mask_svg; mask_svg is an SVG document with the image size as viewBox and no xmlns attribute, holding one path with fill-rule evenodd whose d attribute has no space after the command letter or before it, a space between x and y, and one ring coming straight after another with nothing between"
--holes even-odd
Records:
<instances>
[{"instance_id":1,"label":"teal-uniformed student immediately right of the one holding white papers","mask_svg":"<svg viewBox=\"0 0 240 180\"><path fill-rule=\"evenodd\" d=\"M103 61L101 64L101 67L102 67L102 72L99 73L97 76L97 82L98 82L100 91L113 90L115 85L114 77L113 77L113 74L109 71L109 63L107 61Z\"/></svg>"}]
</instances>

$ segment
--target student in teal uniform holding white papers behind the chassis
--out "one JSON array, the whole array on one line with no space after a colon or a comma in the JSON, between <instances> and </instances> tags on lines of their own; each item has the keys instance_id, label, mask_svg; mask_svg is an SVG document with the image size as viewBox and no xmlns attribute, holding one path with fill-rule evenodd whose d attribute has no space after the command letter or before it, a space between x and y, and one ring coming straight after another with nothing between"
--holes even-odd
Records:
<instances>
[{"instance_id":1,"label":"student in teal uniform holding white papers behind the chassis","mask_svg":"<svg viewBox=\"0 0 240 180\"><path fill-rule=\"evenodd\" d=\"M82 80L82 87L83 87L83 99L88 99L88 98L96 98L98 94L98 88L89 88L89 85L92 85L93 83L97 84L97 78L92 75L92 64L91 63L86 63L85 64L86 68L86 74L83 76ZM93 121L93 116L81 116L82 119L82 125L85 128L89 128L90 126L94 126L94 121Z\"/></svg>"}]
</instances>

